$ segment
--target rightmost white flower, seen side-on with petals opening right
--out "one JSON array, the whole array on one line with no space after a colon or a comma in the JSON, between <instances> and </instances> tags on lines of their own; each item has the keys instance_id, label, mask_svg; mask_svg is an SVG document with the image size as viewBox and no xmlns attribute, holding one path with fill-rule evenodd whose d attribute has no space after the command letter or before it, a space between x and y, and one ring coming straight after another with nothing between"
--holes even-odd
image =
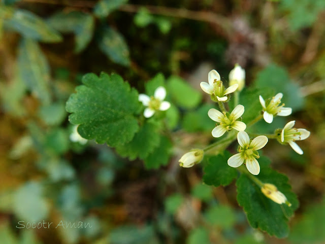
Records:
<instances>
[{"instance_id":1,"label":"rightmost white flower, seen side-on with petals opening right","mask_svg":"<svg viewBox=\"0 0 325 244\"><path fill-rule=\"evenodd\" d=\"M296 153L304 154L303 150L298 146L295 141L302 141L309 137L310 132L306 129L293 128L296 121L288 122L281 131L281 142L289 144Z\"/></svg>"}]
</instances>

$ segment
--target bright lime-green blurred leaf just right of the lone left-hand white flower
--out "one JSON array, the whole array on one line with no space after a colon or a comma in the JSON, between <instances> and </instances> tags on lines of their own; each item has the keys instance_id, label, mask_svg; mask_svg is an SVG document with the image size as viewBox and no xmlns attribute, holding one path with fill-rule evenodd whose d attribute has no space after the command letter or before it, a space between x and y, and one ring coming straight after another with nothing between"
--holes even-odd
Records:
<instances>
[{"instance_id":1,"label":"bright lime-green blurred leaf just right of the lone left-hand white flower","mask_svg":"<svg viewBox=\"0 0 325 244\"><path fill-rule=\"evenodd\" d=\"M202 100L202 94L178 76L171 76L167 87L173 101L185 109L197 107Z\"/></svg>"}]
</instances>

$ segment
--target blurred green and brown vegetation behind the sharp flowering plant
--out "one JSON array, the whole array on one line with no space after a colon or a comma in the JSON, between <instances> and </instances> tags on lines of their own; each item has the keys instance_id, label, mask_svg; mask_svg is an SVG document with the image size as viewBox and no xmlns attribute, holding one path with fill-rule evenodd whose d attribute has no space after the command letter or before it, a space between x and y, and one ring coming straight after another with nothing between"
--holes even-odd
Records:
<instances>
[{"instance_id":1,"label":"blurred green and brown vegetation behind the sharp flowering plant","mask_svg":"<svg viewBox=\"0 0 325 244\"><path fill-rule=\"evenodd\" d=\"M324 21L323 0L2 0L1 243L325 243ZM264 151L300 201L285 239L248 225L234 183L203 185L200 165L178 165L212 140L200 82L211 69L228 81L236 63L247 86L283 92L297 127L311 131L303 156L271 141ZM102 71L140 92L166 80L181 147L167 138L161 160L143 162L72 142L65 103L84 74ZM17 229L20 220L93 227Z\"/></svg>"}]
</instances>

